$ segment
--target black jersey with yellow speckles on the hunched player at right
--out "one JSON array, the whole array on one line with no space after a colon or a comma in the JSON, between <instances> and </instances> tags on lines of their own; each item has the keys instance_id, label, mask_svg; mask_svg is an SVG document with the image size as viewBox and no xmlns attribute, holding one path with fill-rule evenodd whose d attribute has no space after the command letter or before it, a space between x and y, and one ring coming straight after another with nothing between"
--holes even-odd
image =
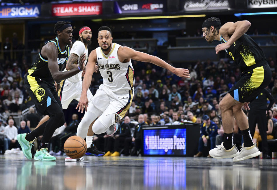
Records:
<instances>
[{"instance_id":1,"label":"black jersey with yellow speckles on the hunched player at right","mask_svg":"<svg viewBox=\"0 0 277 190\"><path fill-rule=\"evenodd\" d=\"M227 41L220 36L220 42L226 43ZM241 72L267 64L263 50L247 34L243 34L225 51L239 66Z\"/></svg>"}]
</instances>

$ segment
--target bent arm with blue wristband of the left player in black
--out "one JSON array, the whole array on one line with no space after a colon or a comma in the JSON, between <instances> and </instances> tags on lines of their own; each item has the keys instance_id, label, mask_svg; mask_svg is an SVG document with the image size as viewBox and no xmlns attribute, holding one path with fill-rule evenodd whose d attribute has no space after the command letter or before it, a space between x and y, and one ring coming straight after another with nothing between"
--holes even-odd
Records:
<instances>
[{"instance_id":1,"label":"bent arm with blue wristband of the left player in black","mask_svg":"<svg viewBox=\"0 0 277 190\"><path fill-rule=\"evenodd\" d=\"M45 48L44 48L45 47ZM57 47L53 43L48 43L42 48L42 56L47 57L48 60L48 68L51 72L51 75L55 81L64 80L67 78L72 77L73 75L76 75L80 72L79 68L83 70L84 68L84 61L85 61L85 54L81 55L82 60L79 64L79 68L72 69L67 72L61 72L59 71L59 65L57 62L58 57L58 50Z\"/></svg>"}]
</instances>

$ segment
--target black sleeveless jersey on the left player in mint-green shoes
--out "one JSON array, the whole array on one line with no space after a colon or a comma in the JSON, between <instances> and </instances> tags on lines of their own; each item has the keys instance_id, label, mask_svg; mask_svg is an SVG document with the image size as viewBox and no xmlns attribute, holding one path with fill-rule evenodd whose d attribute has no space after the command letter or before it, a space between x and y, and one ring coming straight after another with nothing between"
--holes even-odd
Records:
<instances>
[{"instance_id":1,"label":"black sleeveless jersey on the left player in mint-green shoes","mask_svg":"<svg viewBox=\"0 0 277 190\"><path fill-rule=\"evenodd\" d=\"M48 41L47 43L49 42L54 43L57 47L57 50L58 50L57 62L59 64L60 71L63 71L66 66L66 61L70 53L70 47L67 45L65 50L62 52L57 37L53 40ZM47 43L45 43L44 45L46 45ZM41 80L53 82L52 75L48 68L47 58L44 58L41 55L41 49L38 55L36 56L34 62L32 63L31 69L28 70L28 73L32 77L38 77Z\"/></svg>"}]
</instances>

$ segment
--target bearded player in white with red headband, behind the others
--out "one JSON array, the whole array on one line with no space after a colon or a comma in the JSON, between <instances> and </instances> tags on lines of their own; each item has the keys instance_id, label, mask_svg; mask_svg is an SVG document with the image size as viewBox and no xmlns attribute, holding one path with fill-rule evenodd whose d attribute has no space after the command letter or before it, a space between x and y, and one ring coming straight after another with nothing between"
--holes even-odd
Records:
<instances>
[{"instance_id":1,"label":"bearded player in white with red headband, behind the others","mask_svg":"<svg viewBox=\"0 0 277 190\"><path fill-rule=\"evenodd\" d=\"M80 62L80 56L85 53L85 63L86 65L88 60L88 45L91 44L91 29L88 26L83 26L79 30L79 39L73 44L72 48L70 49L70 54L68 60L66 62L66 70L72 70L74 68L78 68ZM96 65L94 68L94 72L97 72L98 66ZM82 76L85 74L85 69L83 72L78 73L66 80L62 80L60 84L57 85L57 92L60 97L60 101L62 103L62 108L67 109L68 105L73 99L79 101L82 93ZM88 99L92 99L92 93L88 89L87 91ZM45 116L40 123L44 123L49 119L49 116ZM39 125L40 125L39 123ZM94 122L92 122L93 124ZM91 126L92 126L91 124ZM92 127L89 127L88 134L86 136L86 143L87 143L87 152L86 155L93 155L93 156L103 156L105 152L97 150L97 148L92 144L93 139L93 131ZM68 136L69 137L69 136ZM61 147L62 148L62 147ZM82 161L82 158L79 159L72 159L70 157L65 158L66 162L76 162Z\"/></svg>"}]
</instances>

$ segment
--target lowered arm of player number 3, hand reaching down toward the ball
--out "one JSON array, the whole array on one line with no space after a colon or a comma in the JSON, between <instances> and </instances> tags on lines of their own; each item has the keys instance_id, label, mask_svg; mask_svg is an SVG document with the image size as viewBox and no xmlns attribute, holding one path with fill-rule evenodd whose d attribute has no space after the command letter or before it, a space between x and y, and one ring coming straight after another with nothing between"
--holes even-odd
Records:
<instances>
[{"instance_id":1,"label":"lowered arm of player number 3, hand reaching down toward the ball","mask_svg":"<svg viewBox=\"0 0 277 190\"><path fill-rule=\"evenodd\" d=\"M94 49L90 53L90 56L88 57L88 63L87 63L86 69L85 69L85 75L84 75L83 83L82 83L82 93L81 93L79 103L76 107L76 110L79 107L78 112L81 111L81 113L83 113L84 107L85 107L85 111L87 111L87 107L88 107L87 91L91 84L95 64L96 64L96 50Z\"/></svg>"}]
</instances>

